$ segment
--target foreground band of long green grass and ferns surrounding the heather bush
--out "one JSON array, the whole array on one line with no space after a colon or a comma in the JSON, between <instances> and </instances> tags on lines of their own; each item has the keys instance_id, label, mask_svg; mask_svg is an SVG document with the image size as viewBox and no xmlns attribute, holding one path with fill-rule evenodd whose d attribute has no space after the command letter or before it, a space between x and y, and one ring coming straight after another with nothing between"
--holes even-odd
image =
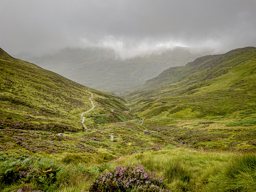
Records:
<instances>
[{"instance_id":1,"label":"foreground band of long green grass and ferns surrounding the heather bush","mask_svg":"<svg viewBox=\"0 0 256 192\"><path fill-rule=\"evenodd\" d=\"M15 159L15 160L14 160ZM4 161L3 161L4 160ZM40 155L27 156L26 151L1 152L1 188L10 191L22 185L40 188L43 191L80 192L94 191L88 184L99 180L99 175L108 180L110 170L137 164L162 178L162 191L255 191L256 154L234 152L198 151L175 148L169 145L162 150L151 149L119 157L117 160L95 165L64 164ZM128 174L124 172L124 174ZM136 174L133 178L136 178ZM94 180L96 178L96 180ZM98 178L98 179L97 179ZM125 177L115 175L116 180ZM109 178L110 179L110 178ZM112 178L113 179L113 178ZM137 181L141 178L137 178ZM12 182L12 185L10 183ZM26 184L27 183L27 184ZM108 182L103 183L107 185ZM114 185L114 187L113 187ZM118 191L118 183L111 182L112 191ZM162 185L163 187L163 185ZM136 185L121 191L137 191ZM139 191L158 191L144 188ZM15 190L11 190L15 191ZM102 190L108 191L108 190Z\"/></svg>"}]
</instances>

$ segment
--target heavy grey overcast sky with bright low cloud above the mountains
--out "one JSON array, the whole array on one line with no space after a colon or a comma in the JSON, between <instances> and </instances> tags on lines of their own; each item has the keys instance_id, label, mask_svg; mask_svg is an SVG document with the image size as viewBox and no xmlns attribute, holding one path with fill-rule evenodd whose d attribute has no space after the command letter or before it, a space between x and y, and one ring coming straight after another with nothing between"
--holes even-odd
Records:
<instances>
[{"instance_id":1,"label":"heavy grey overcast sky with bright low cloud above the mountains","mask_svg":"<svg viewBox=\"0 0 256 192\"><path fill-rule=\"evenodd\" d=\"M256 46L256 0L1 0L0 47L11 55L111 47L127 56L174 45L223 52Z\"/></svg>"}]
</instances>

